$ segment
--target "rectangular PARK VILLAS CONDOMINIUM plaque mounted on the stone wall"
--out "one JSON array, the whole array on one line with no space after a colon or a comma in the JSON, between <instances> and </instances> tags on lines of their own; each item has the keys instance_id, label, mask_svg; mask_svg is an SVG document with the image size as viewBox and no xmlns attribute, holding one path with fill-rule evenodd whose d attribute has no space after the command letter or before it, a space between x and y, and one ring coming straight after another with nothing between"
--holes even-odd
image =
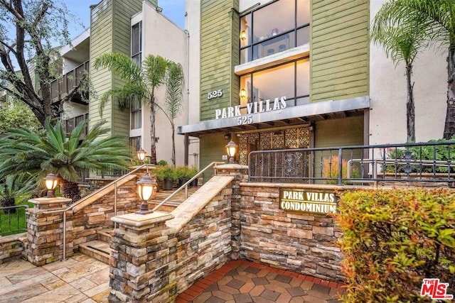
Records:
<instances>
[{"instance_id":1,"label":"rectangular PARK VILLAS CONDOMINIUM plaque mounted on the stone wall","mask_svg":"<svg viewBox=\"0 0 455 303\"><path fill-rule=\"evenodd\" d=\"M334 192L321 192L306 189L280 189L279 209L316 214L335 214L336 195Z\"/></svg>"}]
</instances>

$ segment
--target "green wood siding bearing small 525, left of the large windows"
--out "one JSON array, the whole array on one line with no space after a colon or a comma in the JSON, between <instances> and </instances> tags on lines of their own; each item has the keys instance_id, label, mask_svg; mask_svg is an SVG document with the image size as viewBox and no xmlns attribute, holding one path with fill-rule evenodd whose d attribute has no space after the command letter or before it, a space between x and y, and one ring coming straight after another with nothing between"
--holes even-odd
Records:
<instances>
[{"instance_id":1,"label":"green wood siding bearing small 525, left of the large windows","mask_svg":"<svg viewBox=\"0 0 455 303\"><path fill-rule=\"evenodd\" d=\"M215 109L239 104L238 0L202 0L200 4L200 119L215 118ZM208 100L208 92L223 96Z\"/></svg>"}]
</instances>

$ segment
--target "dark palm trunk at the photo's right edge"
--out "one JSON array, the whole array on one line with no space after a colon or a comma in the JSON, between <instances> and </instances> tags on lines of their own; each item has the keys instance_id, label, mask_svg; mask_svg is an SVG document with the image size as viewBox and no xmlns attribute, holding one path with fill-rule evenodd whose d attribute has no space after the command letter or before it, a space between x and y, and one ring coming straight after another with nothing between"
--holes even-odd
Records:
<instances>
[{"instance_id":1,"label":"dark palm trunk at the photo's right edge","mask_svg":"<svg viewBox=\"0 0 455 303\"><path fill-rule=\"evenodd\" d=\"M455 134L455 43L449 47L447 57L447 111L444 123L444 139L449 140Z\"/></svg>"}]
</instances>

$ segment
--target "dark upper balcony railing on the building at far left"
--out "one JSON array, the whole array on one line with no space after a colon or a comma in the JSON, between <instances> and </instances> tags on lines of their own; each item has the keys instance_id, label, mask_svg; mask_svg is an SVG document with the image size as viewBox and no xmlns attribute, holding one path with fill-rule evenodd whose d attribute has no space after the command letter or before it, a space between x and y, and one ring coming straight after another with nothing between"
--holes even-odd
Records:
<instances>
[{"instance_id":1,"label":"dark upper balcony railing on the building at far left","mask_svg":"<svg viewBox=\"0 0 455 303\"><path fill-rule=\"evenodd\" d=\"M74 70L67 72L61 79L54 80L50 83L51 92L50 95L53 101L61 99L66 94L71 92L77 85L80 84L82 75L89 72L90 61L87 60L81 65L77 66Z\"/></svg>"}]
</instances>

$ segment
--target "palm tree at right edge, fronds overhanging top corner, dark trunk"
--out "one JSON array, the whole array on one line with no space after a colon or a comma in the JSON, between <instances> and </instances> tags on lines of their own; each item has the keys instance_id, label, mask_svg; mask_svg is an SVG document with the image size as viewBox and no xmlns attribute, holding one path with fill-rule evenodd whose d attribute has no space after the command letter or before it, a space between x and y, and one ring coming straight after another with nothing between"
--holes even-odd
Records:
<instances>
[{"instance_id":1,"label":"palm tree at right edge, fronds overhanging top corner, dark trunk","mask_svg":"<svg viewBox=\"0 0 455 303\"><path fill-rule=\"evenodd\" d=\"M448 51L444 138L450 139L455 134L455 1L392 0L387 6L382 20L392 20L401 30L422 30L430 43Z\"/></svg>"}]
</instances>

